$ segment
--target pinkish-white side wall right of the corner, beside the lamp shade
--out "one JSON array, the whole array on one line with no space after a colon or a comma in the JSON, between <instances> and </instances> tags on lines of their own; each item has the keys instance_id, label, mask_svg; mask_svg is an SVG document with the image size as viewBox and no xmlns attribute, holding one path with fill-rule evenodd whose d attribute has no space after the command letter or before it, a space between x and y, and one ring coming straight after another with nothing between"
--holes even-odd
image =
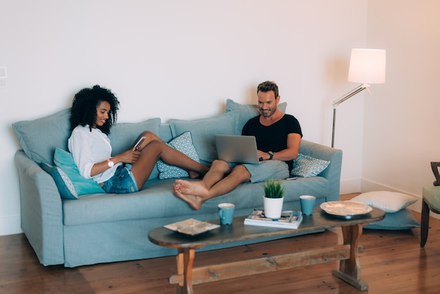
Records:
<instances>
[{"instance_id":1,"label":"pinkish-white side wall right of the corner, beside the lamp shade","mask_svg":"<svg viewBox=\"0 0 440 294\"><path fill-rule=\"evenodd\" d=\"M368 46L387 49L387 82L365 98L362 190L421 197L440 160L440 1L369 0ZM421 204L412 206L420 211Z\"/></svg>"}]
</instances>

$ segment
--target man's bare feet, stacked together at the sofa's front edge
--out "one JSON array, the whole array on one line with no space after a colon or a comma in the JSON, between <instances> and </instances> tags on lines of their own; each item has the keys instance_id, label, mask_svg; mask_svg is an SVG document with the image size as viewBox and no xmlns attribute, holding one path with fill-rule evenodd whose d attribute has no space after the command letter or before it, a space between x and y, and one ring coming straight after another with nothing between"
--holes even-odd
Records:
<instances>
[{"instance_id":1,"label":"man's bare feet, stacked together at the sofa's front edge","mask_svg":"<svg viewBox=\"0 0 440 294\"><path fill-rule=\"evenodd\" d=\"M195 210L200 210L202 204L209 199L209 191L201 181L177 179L173 188L174 195L186 201Z\"/></svg>"}]
</instances>

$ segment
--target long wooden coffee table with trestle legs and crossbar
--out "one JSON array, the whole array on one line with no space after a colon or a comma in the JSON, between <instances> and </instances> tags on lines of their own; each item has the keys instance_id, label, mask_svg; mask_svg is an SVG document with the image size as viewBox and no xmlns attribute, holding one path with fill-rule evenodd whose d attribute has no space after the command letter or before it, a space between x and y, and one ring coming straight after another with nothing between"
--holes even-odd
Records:
<instances>
[{"instance_id":1,"label":"long wooden coffee table with trestle legs and crossbar","mask_svg":"<svg viewBox=\"0 0 440 294\"><path fill-rule=\"evenodd\" d=\"M148 238L157 245L177 248L177 274L173 274L169 277L169 283L177 284L177 293L193 293L193 285L199 283L261 274L280 269L304 267L306 265L321 264L336 260L340 260L340 262L339 270L332 271L334 276L346 281L358 288L358 290L368 290L368 284L360 279L361 266L358 256L358 241L362 235L363 224L378 222L384 219L384 217L385 213L374 207L372 212L354 219L333 217L323 212L321 208L316 207L313 211L313 215L304 216L302 223L296 230L269 228L266 226L249 226L243 223L245 217L235 217L232 225L221 226L218 229L195 236L188 236L164 227L159 227L150 231ZM219 224L219 219L208 222ZM207 245L244 241L268 236L287 237L294 233L330 229L339 226L342 228L343 244L193 268L195 249ZM297 238L301 238L301 236Z\"/></svg>"}]
</instances>

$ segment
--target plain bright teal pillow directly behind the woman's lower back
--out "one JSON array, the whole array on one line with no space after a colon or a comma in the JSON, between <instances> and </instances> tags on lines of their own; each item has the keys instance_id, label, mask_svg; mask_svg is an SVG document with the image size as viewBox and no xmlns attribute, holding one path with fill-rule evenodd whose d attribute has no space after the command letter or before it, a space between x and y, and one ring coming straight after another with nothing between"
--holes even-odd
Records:
<instances>
[{"instance_id":1,"label":"plain bright teal pillow directly behind the woman's lower back","mask_svg":"<svg viewBox=\"0 0 440 294\"><path fill-rule=\"evenodd\" d=\"M96 181L86 179L79 174L78 167L71 153L61 148L56 148L55 155L53 155L53 162L55 162L55 166L63 170L70 181L72 181L78 196L91 193L105 193L103 188L99 186Z\"/></svg>"}]
</instances>

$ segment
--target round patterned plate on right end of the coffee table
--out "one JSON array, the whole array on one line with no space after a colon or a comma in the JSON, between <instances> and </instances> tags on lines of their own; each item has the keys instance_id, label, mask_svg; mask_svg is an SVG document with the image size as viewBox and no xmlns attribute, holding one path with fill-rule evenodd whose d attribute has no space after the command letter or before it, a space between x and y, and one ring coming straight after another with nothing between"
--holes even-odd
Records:
<instances>
[{"instance_id":1,"label":"round patterned plate on right end of the coffee table","mask_svg":"<svg viewBox=\"0 0 440 294\"><path fill-rule=\"evenodd\" d=\"M344 217L346 219L360 217L373 210L373 208L366 205L365 203L360 203L356 201L330 201L322 203L320 207L329 215Z\"/></svg>"}]
</instances>

